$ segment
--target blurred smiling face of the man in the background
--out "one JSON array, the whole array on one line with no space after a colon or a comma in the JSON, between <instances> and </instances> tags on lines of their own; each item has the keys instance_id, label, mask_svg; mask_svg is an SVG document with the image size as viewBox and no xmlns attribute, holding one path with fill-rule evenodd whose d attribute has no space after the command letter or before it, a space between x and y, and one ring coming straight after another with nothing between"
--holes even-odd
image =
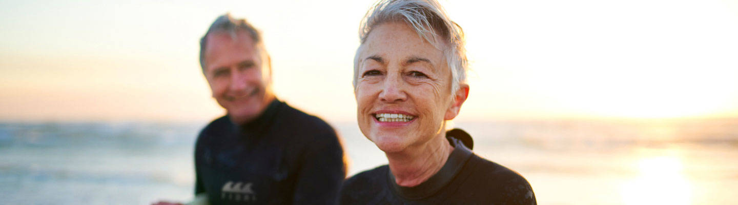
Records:
<instances>
[{"instance_id":1,"label":"blurred smiling face of the man in the background","mask_svg":"<svg viewBox=\"0 0 738 205\"><path fill-rule=\"evenodd\" d=\"M215 32L206 38L204 74L213 98L235 123L258 117L273 97L266 59L256 51L251 36Z\"/></svg>"}]
</instances>

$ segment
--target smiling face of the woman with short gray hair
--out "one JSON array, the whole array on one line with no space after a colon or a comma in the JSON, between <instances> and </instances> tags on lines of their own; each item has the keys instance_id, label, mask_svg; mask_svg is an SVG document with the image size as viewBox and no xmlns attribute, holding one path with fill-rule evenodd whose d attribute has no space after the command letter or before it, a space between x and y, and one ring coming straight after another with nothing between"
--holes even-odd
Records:
<instances>
[{"instance_id":1,"label":"smiling face of the woman with short gray hair","mask_svg":"<svg viewBox=\"0 0 738 205\"><path fill-rule=\"evenodd\" d=\"M444 136L444 119L453 119L461 103L452 100L440 49L407 24L384 23L370 32L358 63L359 128L380 150L397 152Z\"/></svg>"}]
</instances>

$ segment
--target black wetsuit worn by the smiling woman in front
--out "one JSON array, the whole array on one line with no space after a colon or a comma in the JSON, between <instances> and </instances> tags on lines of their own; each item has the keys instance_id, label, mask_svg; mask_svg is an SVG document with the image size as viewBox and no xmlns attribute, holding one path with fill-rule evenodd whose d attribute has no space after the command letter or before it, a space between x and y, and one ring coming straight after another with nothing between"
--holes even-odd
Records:
<instances>
[{"instance_id":1,"label":"black wetsuit worn by the smiling woman in front","mask_svg":"<svg viewBox=\"0 0 738 205\"><path fill-rule=\"evenodd\" d=\"M454 150L427 181L400 187L387 165L376 167L345 181L339 204L536 204L523 176L467 148L473 147L468 133L455 129L446 136Z\"/></svg>"}]
</instances>

